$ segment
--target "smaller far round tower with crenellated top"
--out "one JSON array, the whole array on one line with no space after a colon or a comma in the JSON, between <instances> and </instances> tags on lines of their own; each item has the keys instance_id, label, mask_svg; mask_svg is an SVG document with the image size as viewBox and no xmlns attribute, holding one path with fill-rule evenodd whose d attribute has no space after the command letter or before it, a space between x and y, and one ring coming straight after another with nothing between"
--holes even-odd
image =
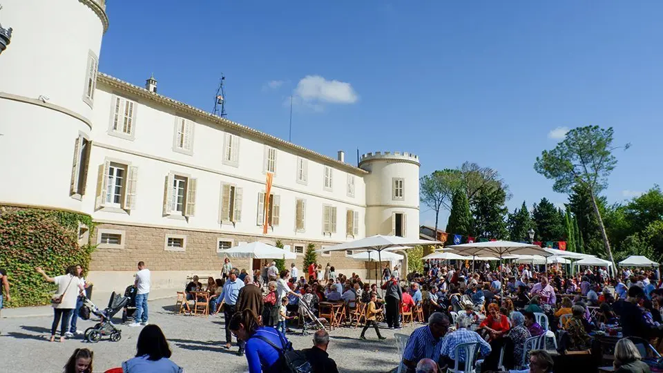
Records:
<instances>
[{"instance_id":1,"label":"smaller far round tower with crenellated top","mask_svg":"<svg viewBox=\"0 0 663 373\"><path fill-rule=\"evenodd\" d=\"M359 167L366 183L366 236L419 238L419 157L405 152L366 153Z\"/></svg>"}]
</instances>

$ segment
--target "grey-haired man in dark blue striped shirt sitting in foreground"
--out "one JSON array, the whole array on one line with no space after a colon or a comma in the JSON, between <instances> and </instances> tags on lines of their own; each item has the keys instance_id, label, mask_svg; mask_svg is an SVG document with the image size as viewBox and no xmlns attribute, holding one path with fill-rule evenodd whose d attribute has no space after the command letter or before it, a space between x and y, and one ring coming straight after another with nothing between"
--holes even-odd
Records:
<instances>
[{"instance_id":1,"label":"grey-haired man in dark blue striped shirt sitting in foreground","mask_svg":"<svg viewBox=\"0 0 663 373\"><path fill-rule=\"evenodd\" d=\"M428 318L428 325L416 329L410 335L403 351L403 365L407 373L414 373L416 364L422 358L440 360L442 337L447 333L449 318L440 312L434 312Z\"/></svg>"}]
</instances>

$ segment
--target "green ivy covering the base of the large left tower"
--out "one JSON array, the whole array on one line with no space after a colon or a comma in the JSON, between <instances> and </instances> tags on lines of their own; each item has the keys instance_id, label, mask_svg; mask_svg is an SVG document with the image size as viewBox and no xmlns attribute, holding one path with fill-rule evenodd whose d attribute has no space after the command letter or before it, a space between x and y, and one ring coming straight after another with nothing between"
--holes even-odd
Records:
<instances>
[{"instance_id":1,"label":"green ivy covering the base of the large left tower","mask_svg":"<svg viewBox=\"0 0 663 373\"><path fill-rule=\"evenodd\" d=\"M92 236L90 216L69 211L0 207L0 268L7 271L12 301L8 307L47 305L55 285L47 283L35 267L51 277L70 265L90 264L94 247L78 245L79 224Z\"/></svg>"}]
</instances>

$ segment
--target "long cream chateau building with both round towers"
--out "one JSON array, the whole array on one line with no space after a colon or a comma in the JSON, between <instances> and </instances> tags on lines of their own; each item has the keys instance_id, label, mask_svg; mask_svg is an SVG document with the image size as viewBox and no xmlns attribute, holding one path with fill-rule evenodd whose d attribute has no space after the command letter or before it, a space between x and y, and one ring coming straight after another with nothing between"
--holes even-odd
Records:
<instances>
[{"instance_id":1,"label":"long cream chateau building with both round towers","mask_svg":"<svg viewBox=\"0 0 663 373\"><path fill-rule=\"evenodd\" d=\"M217 251L241 242L281 240L302 274L309 244L419 238L416 155L367 153L356 167L341 151L328 157L164 97L153 78L142 87L97 72L104 0L2 5L0 22L14 32L0 55L0 165L9 176L0 205L92 216L88 277L97 289L133 283L139 260L155 288L218 276ZM318 262L348 275L372 268L347 255Z\"/></svg>"}]
</instances>

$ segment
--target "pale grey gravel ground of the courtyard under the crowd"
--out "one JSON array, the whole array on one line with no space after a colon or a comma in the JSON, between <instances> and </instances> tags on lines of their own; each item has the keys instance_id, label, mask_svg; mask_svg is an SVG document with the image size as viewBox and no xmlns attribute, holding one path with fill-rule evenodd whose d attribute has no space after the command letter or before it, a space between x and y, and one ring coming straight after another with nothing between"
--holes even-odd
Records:
<instances>
[{"instance_id":1,"label":"pale grey gravel ground of the courtyard under the crowd","mask_svg":"<svg viewBox=\"0 0 663 373\"><path fill-rule=\"evenodd\" d=\"M244 356L236 356L237 347L225 350L223 316L183 316L173 314L174 299L154 300L149 303L150 323L159 325L173 350L172 359L189 373L247 372ZM121 314L118 313L118 316ZM108 337L99 343L86 343L80 336L64 343L49 343L52 317L3 318L0 320L0 350L3 366L16 367L21 372L61 372L68 357L77 347L88 347L95 352L95 372L118 367L135 354L140 327L119 325L122 341L111 342ZM93 321L79 320L79 329L94 325ZM419 327L419 324L414 327ZM400 332L410 334L410 325ZM381 329L385 341L377 341L374 330L366 332L368 341L358 336L361 329L343 327L331 332L329 356L336 361L340 372L389 372L398 365L398 350L394 331ZM311 336L302 336L296 329L288 338L298 350L311 347Z\"/></svg>"}]
</instances>

